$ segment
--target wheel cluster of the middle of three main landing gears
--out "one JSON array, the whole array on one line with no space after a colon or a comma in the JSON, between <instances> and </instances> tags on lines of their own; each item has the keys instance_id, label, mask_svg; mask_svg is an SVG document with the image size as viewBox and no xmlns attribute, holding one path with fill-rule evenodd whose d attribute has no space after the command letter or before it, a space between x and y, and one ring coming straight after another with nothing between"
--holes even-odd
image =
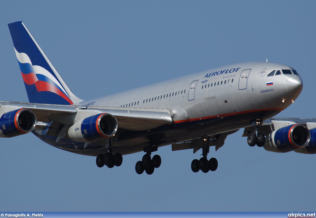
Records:
<instances>
[{"instance_id":1,"label":"wheel cluster of the middle of three main landing gears","mask_svg":"<svg viewBox=\"0 0 316 218\"><path fill-rule=\"evenodd\" d=\"M135 171L137 174L142 174L144 171L148 175L153 174L155 168L160 167L161 165L161 157L156 154L153 158L151 158L151 152L146 152L141 161L137 161L135 165Z\"/></svg>"}]
</instances>

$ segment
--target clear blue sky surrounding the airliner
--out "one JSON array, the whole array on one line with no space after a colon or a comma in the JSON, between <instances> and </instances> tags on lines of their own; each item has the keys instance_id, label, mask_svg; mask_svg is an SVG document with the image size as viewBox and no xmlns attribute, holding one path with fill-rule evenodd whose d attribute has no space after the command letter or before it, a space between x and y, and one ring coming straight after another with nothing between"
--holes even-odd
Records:
<instances>
[{"instance_id":1,"label":"clear blue sky surrounding the airliner","mask_svg":"<svg viewBox=\"0 0 316 218\"><path fill-rule=\"evenodd\" d=\"M283 117L316 117L316 1L1 1L0 99L27 102L7 26L23 21L82 99L213 67L268 61L304 82ZM120 167L68 153L33 134L0 139L0 211L314 211L315 155L249 147L242 131L193 173L200 151L158 149L162 164L137 175L143 153Z\"/></svg>"}]
</instances>

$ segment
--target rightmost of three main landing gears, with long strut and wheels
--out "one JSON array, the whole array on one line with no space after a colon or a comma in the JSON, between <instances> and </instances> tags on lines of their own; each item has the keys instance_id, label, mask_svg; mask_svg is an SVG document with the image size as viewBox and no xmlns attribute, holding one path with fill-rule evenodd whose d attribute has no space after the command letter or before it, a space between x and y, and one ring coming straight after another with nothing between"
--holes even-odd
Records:
<instances>
[{"instance_id":1,"label":"rightmost of three main landing gears, with long strut and wheels","mask_svg":"<svg viewBox=\"0 0 316 218\"><path fill-rule=\"evenodd\" d=\"M191 163L191 170L193 172L198 172L201 170L204 173L209 171L216 171L218 166L218 161L216 158L211 158L207 160L207 154L210 152L210 138L209 136L204 138L202 143L202 158L200 160L194 159Z\"/></svg>"}]
</instances>

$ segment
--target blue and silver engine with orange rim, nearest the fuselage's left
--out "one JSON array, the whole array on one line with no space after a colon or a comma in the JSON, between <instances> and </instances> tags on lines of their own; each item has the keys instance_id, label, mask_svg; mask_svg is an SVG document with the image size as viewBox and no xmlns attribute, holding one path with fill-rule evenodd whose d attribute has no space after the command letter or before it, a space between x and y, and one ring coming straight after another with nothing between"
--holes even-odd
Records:
<instances>
[{"instance_id":1,"label":"blue and silver engine with orange rim, nearest the fuselage's left","mask_svg":"<svg viewBox=\"0 0 316 218\"><path fill-rule=\"evenodd\" d=\"M96 114L76 122L68 130L71 140L94 142L111 137L118 129L118 121L111 114Z\"/></svg>"}]
</instances>

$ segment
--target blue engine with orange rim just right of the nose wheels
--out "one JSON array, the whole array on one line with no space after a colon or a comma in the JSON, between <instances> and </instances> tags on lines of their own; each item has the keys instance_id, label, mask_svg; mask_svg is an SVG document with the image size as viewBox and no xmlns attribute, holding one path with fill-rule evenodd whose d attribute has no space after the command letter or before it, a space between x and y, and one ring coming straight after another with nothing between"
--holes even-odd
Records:
<instances>
[{"instance_id":1,"label":"blue engine with orange rim just right of the nose wheels","mask_svg":"<svg viewBox=\"0 0 316 218\"><path fill-rule=\"evenodd\" d=\"M293 124L270 133L265 140L264 149L285 153L307 146L309 140L308 128L301 124Z\"/></svg>"}]
</instances>

